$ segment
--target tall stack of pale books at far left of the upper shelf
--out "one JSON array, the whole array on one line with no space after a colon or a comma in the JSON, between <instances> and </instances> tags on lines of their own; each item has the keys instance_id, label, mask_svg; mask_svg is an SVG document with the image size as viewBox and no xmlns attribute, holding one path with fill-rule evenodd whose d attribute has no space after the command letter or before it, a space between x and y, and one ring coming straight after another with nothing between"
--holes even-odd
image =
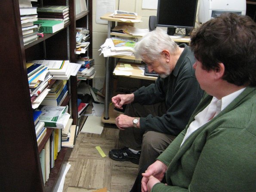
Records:
<instances>
[{"instance_id":1,"label":"tall stack of pale books at far left of the upper shelf","mask_svg":"<svg viewBox=\"0 0 256 192\"><path fill-rule=\"evenodd\" d=\"M37 0L34 0L37 1ZM37 25L34 25L34 21L37 21L37 7L32 7L31 0L19 0L19 9L22 23L22 35L24 45L27 45L37 40Z\"/></svg>"}]
</instances>

